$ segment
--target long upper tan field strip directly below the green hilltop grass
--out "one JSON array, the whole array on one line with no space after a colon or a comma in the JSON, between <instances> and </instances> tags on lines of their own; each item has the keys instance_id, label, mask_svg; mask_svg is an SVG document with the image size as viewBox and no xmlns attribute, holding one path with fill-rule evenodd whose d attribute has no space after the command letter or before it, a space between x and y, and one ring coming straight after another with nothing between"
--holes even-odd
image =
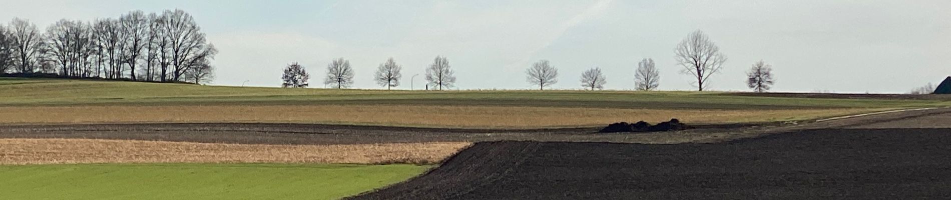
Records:
<instances>
[{"instance_id":1,"label":"long upper tan field strip directly below the green hilltop grass","mask_svg":"<svg viewBox=\"0 0 951 200\"><path fill-rule=\"evenodd\" d=\"M7 106L0 124L135 122L289 122L417 127L540 128L616 121L730 123L827 118L882 108L796 110L661 110L428 105Z\"/></svg>"}]
</instances>

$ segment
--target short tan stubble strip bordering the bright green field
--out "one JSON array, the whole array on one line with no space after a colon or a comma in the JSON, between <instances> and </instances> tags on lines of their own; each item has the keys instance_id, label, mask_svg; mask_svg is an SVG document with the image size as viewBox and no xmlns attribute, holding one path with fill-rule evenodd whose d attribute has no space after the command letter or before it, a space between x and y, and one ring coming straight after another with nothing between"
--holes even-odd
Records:
<instances>
[{"instance_id":1,"label":"short tan stubble strip bordering the bright green field","mask_svg":"<svg viewBox=\"0 0 951 200\"><path fill-rule=\"evenodd\" d=\"M211 144L107 139L0 139L0 165L75 163L435 164L467 142L348 145Z\"/></svg>"}]
</instances>

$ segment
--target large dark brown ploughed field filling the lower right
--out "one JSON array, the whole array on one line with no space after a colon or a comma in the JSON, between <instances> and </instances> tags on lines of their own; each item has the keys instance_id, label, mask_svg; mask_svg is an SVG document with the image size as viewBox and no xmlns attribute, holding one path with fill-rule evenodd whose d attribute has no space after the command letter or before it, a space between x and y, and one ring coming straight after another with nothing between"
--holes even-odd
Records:
<instances>
[{"instance_id":1,"label":"large dark brown ploughed field filling the lower right","mask_svg":"<svg viewBox=\"0 0 951 200\"><path fill-rule=\"evenodd\" d=\"M836 123L720 143L479 142L430 173L351 199L951 196L947 111Z\"/></svg>"}]
</instances>

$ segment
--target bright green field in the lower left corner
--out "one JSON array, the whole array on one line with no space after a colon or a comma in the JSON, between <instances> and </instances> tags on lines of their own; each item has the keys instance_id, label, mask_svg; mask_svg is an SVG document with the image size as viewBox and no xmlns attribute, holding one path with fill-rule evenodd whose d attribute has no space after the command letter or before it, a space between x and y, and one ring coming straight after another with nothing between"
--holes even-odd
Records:
<instances>
[{"instance_id":1,"label":"bright green field in the lower left corner","mask_svg":"<svg viewBox=\"0 0 951 200\"><path fill-rule=\"evenodd\" d=\"M0 199L340 199L430 166L87 164L0 166Z\"/></svg>"}]
</instances>

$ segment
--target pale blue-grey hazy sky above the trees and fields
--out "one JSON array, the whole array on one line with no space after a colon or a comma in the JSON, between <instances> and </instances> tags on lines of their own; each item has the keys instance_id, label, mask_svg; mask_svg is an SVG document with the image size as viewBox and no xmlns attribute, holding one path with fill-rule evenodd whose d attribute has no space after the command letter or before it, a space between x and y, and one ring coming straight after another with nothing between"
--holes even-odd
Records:
<instances>
[{"instance_id":1,"label":"pale blue-grey hazy sky above the trees and fields","mask_svg":"<svg viewBox=\"0 0 951 200\"><path fill-rule=\"evenodd\" d=\"M456 89L532 89L525 70L549 60L555 89L581 89L581 73L600 67L606 89L631 90L637 63L651 58L661 90L692 90L673 48L697 29L728 56L709 90L748 91L746 71L760 60L776 92L904 93L951 76L947 0L0 1L0 21L42 29L183 9L219 49L216 85L280 86L281 69L300 63L323 87L327 64L344 58L355 88L385 88L373 74L392 57L398 88L419 89L445 56Z\"/></svg>"}]
</instances>

